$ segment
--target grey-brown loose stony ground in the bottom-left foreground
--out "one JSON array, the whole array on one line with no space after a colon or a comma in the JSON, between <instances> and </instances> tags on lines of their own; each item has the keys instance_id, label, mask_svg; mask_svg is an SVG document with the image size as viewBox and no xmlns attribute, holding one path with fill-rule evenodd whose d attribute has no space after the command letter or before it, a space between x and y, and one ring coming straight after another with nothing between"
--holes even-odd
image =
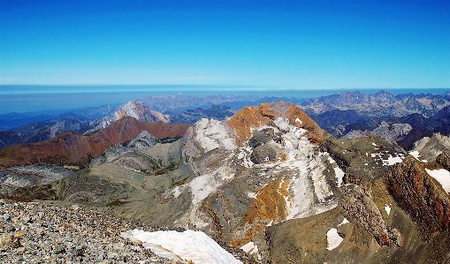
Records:
<instances>
[{"instance_id":1,"label":"grey-brown loose stony ground in the bottom-left foreground","mask_svg":"<svg viewBox=\"0 0 450 264\"><path fill-rule=\"evenodd\" d=\"M76 206L0 200L0 263L174 263L120 237L133 229L164 230Z\"/></svg>"}]
</instances>

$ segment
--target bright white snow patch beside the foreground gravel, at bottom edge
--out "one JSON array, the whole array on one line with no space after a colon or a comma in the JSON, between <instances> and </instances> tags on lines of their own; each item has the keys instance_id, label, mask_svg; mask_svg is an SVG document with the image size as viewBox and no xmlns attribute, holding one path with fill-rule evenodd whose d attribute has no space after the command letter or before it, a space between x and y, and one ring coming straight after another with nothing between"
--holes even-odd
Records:
<instances>
[{"instance_id":1,"label":"bright white snow patch beside the foreground gravel, at bottom edge","mask_svg":"<svg viewBox=\"0 0 450 264\"><path fill-rule=\"evenodd\" d=\"M201 231L128 230L122 232L120 236L134 242L141 242L145 248L156 255L171 260L194 264L242 263Z\"/></svg>"}]
</instances>

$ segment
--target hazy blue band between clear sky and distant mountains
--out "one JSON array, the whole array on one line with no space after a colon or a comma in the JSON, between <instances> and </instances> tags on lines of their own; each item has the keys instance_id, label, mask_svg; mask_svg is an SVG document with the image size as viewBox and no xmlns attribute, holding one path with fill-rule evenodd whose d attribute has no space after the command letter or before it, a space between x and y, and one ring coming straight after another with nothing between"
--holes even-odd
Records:
<instances>
[{"instance_id":1,"label":"hazy blue band between clear sky and distant mountains","mask_svg":"<svg viewBox=\"0 0 450 264\"><path fill-rule=\"evenodd\" d=\"M211 88L213 87L213 88ZM37 91L36 91L37 89ZM375 94L385 90L391 94L445 94L450 88L423 89L271 89L244 86L4 86L0 85L0 114L33 112L39 110L70 110L123 104L128 101L156 95L185 94L245 95L254 97L316 98L361 91Z\"/></svg>"}]
</instances>

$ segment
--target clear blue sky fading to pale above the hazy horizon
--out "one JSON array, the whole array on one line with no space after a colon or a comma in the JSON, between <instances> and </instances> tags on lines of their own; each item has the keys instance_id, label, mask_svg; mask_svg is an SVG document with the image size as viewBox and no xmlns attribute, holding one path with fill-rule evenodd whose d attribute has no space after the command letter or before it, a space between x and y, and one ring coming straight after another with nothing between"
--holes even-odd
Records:
<instances>
[{"instance_id":1,"label":"clear blue sky fading to pale above the hazy horizon","mask_svg":"<svg viewBox=\"0 0 450 264\"><path fill-rule=\"evenodd\" d=\"M0 85L450 87L450 1L0 0Z\"/></svg>"}]
</instances>

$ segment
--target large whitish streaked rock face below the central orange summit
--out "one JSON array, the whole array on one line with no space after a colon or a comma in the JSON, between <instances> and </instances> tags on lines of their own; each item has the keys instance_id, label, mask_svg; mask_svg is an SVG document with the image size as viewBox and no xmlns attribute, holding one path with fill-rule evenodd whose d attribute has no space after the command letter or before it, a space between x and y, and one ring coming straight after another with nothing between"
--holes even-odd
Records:
<instances>
[{"instance_id":1,"label":"large whitish streaked rock face below the central orange summit","mask_svg":"<svg viewBox=\"0 0 450 264\"><path fill-rule=\"evenodd\" d=\"M314 155L315 146L303 137L306 131L290 124L288 119L278 117L274 124L277 125L277 127L273 127L276 130L275 132L279 132L278 129L286 132L282 135L284 144L279 145L280 148L285 149L286 161L271 163L269 166L272 170L289 169L294 171L294 176L287 186L290 199L285 197L286 220L317 215L336 207L337 201L329 200L333 192L324 177L324 170L326 169L324 160L328 159L332 163L334 162L332 157L327 153ZM257 130L265 127L262 126ZM278 143L272 141L272 144ZM263 168L268 165L258 166ZM339 174L339 171L337 171L337 174ZM343 177L343 175L339 174L338 177Z\"/></svg>"}]
</instances>

